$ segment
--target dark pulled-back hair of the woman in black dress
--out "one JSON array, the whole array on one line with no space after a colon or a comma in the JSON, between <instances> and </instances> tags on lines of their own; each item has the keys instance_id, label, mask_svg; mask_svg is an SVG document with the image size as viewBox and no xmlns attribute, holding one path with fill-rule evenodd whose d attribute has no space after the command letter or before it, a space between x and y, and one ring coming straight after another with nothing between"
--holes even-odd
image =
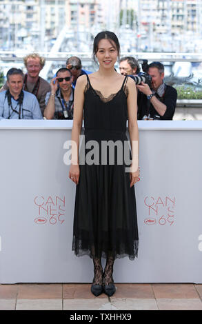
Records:
<instances>
[{"instance_id":1,"label":"dark pulled-back hair of the woman in black dress","mask_svg":"<svg viewBox=\"0 0 202 324\"><path fill-rule=\"evenodd\" d=\"M117 35L114 34L114 32L109 32L108 30L105 30L104 32L99 32L96 37L94 37L94 43L93 43L93 59L95 60L95 55L98 51L98 44L101 39L108 39L112 46L116 48L118 52L118 58L120 57L120 44L119 39L117 38Z\"/></svg>"}]
</instances>

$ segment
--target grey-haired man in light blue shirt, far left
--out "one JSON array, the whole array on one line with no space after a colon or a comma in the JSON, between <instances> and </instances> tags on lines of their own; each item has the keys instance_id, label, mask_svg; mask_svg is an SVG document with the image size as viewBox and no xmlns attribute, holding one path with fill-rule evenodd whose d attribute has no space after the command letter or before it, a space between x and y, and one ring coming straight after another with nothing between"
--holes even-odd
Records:
<instances>
[{"instance_id":1,"label":"grey-haired man in light blue shirt, far left","mask_svg":"<svg viewBox=\"0 0 202 324\"><path fill-rule=\"evenodd\" d=\"M6 77L8 90L0 92L0 119L43 119L37 98L23 90L23 71L12 68Z\"/></svg>"}]
</instances>

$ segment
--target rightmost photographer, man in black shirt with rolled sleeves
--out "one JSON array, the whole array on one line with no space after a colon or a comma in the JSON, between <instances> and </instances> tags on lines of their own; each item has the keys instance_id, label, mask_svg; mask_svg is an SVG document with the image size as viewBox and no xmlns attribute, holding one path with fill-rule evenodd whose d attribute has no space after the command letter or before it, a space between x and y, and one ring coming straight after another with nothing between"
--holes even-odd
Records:
<instances>
[{"instance_id":1,"label":"rightmost photographer, man in black shirt with rolled sleeves","mask_svg":"<svg viewBox=\"0 0 202 324\"><path fill-rule=\"evenodd\" d=\"M172 120L177 93L172 86L166 85L163 81L163 64L152 62L148 65L147 72L152 78L151 86L143 82L137 85L138 119Z\"/></svg>"}]
</instances>

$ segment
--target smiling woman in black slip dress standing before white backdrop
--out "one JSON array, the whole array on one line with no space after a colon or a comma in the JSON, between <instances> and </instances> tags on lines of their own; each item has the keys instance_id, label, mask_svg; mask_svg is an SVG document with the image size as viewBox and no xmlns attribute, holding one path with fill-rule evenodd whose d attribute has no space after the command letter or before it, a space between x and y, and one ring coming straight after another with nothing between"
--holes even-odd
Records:
<instances>
[{"instance_id":1,"label":"smiling woman in black slip dress standing before white backdrop","mask_svg":"<svg viewBox=\"0 0 202 324\"><path fill-rule=\"evenodd\" d=\"M99 70L79 77L74 92L69 177L77 190L72 250L77 256L88 255L93 260L92 293L112 296L114 260L123 256L133 260L138 252L134 194L139 176L137 92L130 77L114 70L120 45L113 32L97 34L93 52ZM83 119L85 163L81 163L79 154ZM125 134L127 119L132 154ZM130 158L128 163L125 156ZM101 257L106 259L104 271Z\"/></svg>"}]
</instances>

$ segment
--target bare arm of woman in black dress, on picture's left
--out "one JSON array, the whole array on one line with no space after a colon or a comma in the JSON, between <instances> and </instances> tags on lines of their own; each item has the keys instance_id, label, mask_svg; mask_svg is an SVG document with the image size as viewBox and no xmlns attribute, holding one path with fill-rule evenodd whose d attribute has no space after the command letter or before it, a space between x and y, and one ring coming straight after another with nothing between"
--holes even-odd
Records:
<instances>
[{"instance_id":1,"label":"bare arm of woman in black dress, on picture's left","mask_svg":"<svg viewBox=\"0 0 202 324\"><path fill-rule=\"evenodd\" d=\"M77 79L74 90L74 119L72 126L72 160L70 165L69 178L74 183L79 183L79 135L83 121L83 103L84 88L86 84L86 76L83 75Z\"/></svg>"}]
</instances>

